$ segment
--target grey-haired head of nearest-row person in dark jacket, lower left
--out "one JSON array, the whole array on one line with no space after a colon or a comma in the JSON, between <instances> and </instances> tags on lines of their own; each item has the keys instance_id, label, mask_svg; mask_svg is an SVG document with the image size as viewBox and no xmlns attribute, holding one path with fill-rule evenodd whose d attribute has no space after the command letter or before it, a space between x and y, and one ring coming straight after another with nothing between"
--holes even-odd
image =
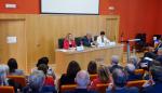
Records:
<instances>
[{"instance_id":1,"label":"grey-haired head of nearest-row person in dark jacket, lower left","mask_svg":"<svg viewBox=\"0 0 162 93\"><path fill-rule=\"evenodd\" d=\"M44 84L45 76L42 70L35 70L29 76L29 87L32 89L32 91L40 91L42 85Z\"/></svg>"}]
</instances>

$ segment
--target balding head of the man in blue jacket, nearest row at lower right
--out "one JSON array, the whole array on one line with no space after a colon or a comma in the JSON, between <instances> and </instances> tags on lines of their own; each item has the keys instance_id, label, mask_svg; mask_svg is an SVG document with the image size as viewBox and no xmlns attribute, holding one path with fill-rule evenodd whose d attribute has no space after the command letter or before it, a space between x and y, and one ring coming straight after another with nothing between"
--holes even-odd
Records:
<instances>
[{"instance_id":1,"label":"balding head of the man in blue jacket, nearest row at lower right","mask_svg":"<svg viewBox=\"0 0 162 93\"><path fill-rule=\"evenodd\" d=\"M112 72L114 87L123 88L126 84L127 76L122 69L114 69Z\"/></svg>"}]
</instances>

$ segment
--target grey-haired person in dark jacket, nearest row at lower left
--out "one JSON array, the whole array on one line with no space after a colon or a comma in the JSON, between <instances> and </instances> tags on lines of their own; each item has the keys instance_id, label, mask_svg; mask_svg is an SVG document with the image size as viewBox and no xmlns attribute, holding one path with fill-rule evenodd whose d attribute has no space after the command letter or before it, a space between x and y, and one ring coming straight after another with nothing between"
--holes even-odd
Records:
<instances>
[{"instance_id":1,"label":"grey-haired person in dark jacket, nearest row at lower left","mask_svg":"<svg viewBox=\"0 0 162 93\"><path fill-rule=\"evenodd\" d=\"M29 76L29 80L28 80L29 84L24 88L23 93L57 93L56 91L54 91L53 87L51 87L51 88L44 87L43 85L44 80L45 80L45 76L44 76L43 71L35 70Z\"/></svg>"}]
</instances>

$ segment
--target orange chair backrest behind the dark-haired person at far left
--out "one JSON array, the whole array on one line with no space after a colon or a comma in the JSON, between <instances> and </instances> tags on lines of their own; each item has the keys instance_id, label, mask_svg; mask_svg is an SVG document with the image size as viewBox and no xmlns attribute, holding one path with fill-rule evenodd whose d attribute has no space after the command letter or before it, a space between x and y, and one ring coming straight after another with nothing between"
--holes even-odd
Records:
<instances>
[{"instance_id":1,"label":"orange chair backrest behind the dark-haired person at far left","mask_svg":"<svg viewBox=\"0 0 162 93\"><path fill-rule=\"evenodd\" d=\"M25 76L8 76L8 78L14 80L14 82L19 83L23 88L27 85Z\"/></svg>"}]
</instances>

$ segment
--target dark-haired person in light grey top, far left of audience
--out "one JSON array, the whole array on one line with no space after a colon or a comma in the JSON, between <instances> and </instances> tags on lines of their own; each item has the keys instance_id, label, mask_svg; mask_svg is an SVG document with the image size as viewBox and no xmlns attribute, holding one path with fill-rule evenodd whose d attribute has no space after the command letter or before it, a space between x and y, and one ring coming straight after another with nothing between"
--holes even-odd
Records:
<instances>
[{"instance_id":1,"label":"dark-haired person in light grey top, far left of audience","mask_svg":"<svg viewBox=\"0 0 162 93\"><path fill-rule=\"evenodd\" d=\"M24 75L23 70L18 69L18 65L15 58L10 58L8 61L8 66L9 66L9 75L13 75L13 76Z\"/></svg>"}]
</instances>

